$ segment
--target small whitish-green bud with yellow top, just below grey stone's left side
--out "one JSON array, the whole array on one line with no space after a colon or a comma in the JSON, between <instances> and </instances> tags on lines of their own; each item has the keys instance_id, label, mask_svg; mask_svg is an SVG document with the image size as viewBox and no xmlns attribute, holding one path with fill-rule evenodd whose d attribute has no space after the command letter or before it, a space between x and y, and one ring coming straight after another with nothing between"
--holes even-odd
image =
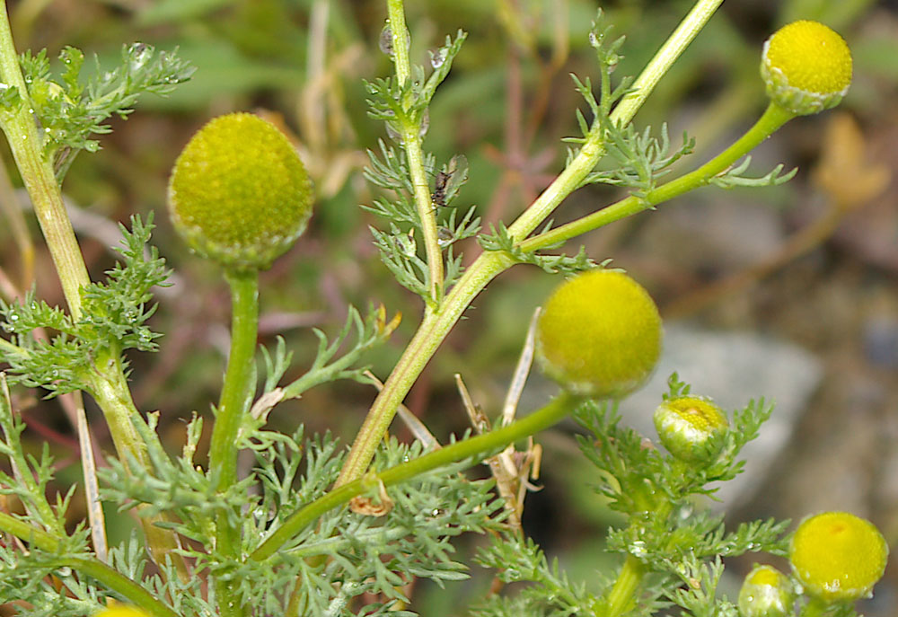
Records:
<instances>
[{"instance_id":1,"label":"small whitish-green bud with yellow top, just below grey stone's left side","mask_svg":"<svg viewBox=\"0 0 898 617\"><path fill-rule=\"evenodd\" d=\"M667 451L688 463L708 462L718 454L712 437L726 430L726 415L711 401L682 396L655 410L655 428Z\"/></svg>"}]
</instances>

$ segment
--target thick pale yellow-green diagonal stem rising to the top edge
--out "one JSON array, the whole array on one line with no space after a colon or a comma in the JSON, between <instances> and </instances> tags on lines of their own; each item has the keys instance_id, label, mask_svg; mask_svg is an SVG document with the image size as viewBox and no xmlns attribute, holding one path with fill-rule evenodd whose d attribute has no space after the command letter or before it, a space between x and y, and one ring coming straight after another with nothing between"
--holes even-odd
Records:
<instances>
[{"instance_id":1,"label":"thick pale yellow-green diagonal stem rising to the top edge","mask_svg":"<svg viewBox=\"0 0 898 617\"><path fill-rule=\"evenodd\" d=\"M401 7L400 0L388 0L388 2L399 4ZM636 84L639 84L641 90L631 93L627 99L621 101L618 109L614 110L612 118L615 121L620 122L622 126L632 119L648 93L655 87L660 76L671 66L682 49L695 38L701 26L708 22L720 2L721 0L699 0L694 5L686 19L665 42L661 51L652 59L643 74L638 77ZM393 24L394 37L396 37L397 25ZM404 40L403 38L399 42L404 44ZM394 46L397 44L395 38L393 43ZM394 48L393 52L397 56L400 53L406 53L404 48ZM398 66L399 60L397 60ZM400 79L402 78L399 73L397 75ZM601 132L598 128L594 128L574 160L550 184L549 188L542 192L533 205L528 207L524 214L519 216L515 223L508 228L512 237L523 240L537 226L541 225L564 198L580 187L586 174L594 169L603 154ZM374 456L374 450L387 428L390 427L396 410L411 389L412 383L415 383L418 375L424 370L424 366L427 366L427 362L436 352L436 348L452 330L455 322L462 316L474 297L480 294L483 287L512 265L514 262L507 259L506 256L496 253L481 254L465 271L452 291L446 295L443 304L440 304L433 313L427 313L418 332L409 343L409 347L406 348L399 362L393 368L390 377L383 384L383 390L377 395L371 410L368 411L365 422L353 442L347 462L340 472L337 486L356 480L365 473L365 469Z\"/></svg>"}]
</instances>

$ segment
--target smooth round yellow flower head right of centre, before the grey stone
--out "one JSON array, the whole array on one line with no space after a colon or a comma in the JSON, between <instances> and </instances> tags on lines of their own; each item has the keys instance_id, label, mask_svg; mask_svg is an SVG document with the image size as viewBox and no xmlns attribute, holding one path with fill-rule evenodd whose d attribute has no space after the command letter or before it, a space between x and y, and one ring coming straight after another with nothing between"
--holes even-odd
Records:
<instances>
[{"instance_id":1,"label":"smooth round yellow flower head right of centre, before the grey stone","mask_svg":"<svg viewBox=\"0 0 898 617\"><path fill-rule=\"evenodd\" d=\"M661 353L661 317L622 272L596 269L562 283L540 316L543 371L571 391L620 397L645 382Z\"/></svg>"}]
</instances>

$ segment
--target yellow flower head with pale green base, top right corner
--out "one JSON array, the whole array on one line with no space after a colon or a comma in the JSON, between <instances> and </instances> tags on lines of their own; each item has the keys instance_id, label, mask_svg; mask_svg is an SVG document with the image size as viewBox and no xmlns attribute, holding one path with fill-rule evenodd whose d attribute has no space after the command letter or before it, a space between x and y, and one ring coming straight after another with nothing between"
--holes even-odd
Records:
<instances>
[{"instance_id":1,"label":"yellow flower head with pale green base, top right corner","mask_svg":"<svg viewBox=\"0 0 898 617\"><path fill-rule=\"evenodd\" d=\"M851 50L836 31L802 20L764 43L761 75L767 96L805 116L839 104L851 85Z\"/></svg>"}]
</instances>

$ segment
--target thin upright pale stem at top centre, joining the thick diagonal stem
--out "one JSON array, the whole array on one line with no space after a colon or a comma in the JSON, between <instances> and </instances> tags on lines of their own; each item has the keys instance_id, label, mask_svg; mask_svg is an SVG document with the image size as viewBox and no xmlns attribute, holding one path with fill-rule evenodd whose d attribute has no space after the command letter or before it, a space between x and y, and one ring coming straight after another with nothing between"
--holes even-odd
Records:
<instances>
[{"instance_id":1,"label":"thin upright pale stem at top centre, joining the thick diagonal stem","mask_svg":"<svg viewBox=\"0 0 898 617\"><path fill-rule=\"evenodd\" d=\"M396 67L396 79L403 87L409 86L411 64L409 61L409 31L405 25L402 0L387 0L387 14L392 31L392 60ZM411 92L411 90L409 90ZM408 109L415 101L402 101ZM436 235L436 208L430 198L430 184L424 170L424 150L421 145L421 112L414 112L401 119L399 127L402 145L409 162L411 184L415 190L415 205L421 219L421 235L427 254L427 270L430 278L430 302L428 308L436 308L443 295L443 251Z\"/></svg>"}]
</instances>

